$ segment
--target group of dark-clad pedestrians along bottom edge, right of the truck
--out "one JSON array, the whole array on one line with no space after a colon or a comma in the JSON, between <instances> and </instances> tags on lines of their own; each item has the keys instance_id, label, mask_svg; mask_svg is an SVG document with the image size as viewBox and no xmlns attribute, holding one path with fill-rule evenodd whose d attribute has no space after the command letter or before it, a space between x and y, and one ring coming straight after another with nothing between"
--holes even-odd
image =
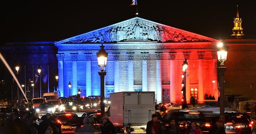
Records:
<instances>
[{"instance_id":1,"label":"group of dark-clad pedestrians along bottom edge, right of the truck","mask_svg":"<svg viewBox=\"0 0 256 134\"><path fill-rule=\"evenodd\" d=\"M183 122L183 128L180 129L180 126L176 124L176 120L171 118L165 131L162 132L162 125L158 121L158 116L157 114L153 114L152 120L147 123L146 134L202 134L202 130L193 120ZM220 120L216 121L208 134L226 134L224 127L221 126Z\"/></svg>"}]
</instances>

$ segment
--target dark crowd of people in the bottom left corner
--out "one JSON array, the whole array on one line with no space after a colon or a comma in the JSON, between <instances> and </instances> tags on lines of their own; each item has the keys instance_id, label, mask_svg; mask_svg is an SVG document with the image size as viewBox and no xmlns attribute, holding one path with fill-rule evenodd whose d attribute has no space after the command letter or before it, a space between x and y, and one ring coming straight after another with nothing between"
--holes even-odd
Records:
<instances>
[{"instance_id":1,"label":"dark crowd of people in the bottom left corner","mask_svg":"<svg viewBox=\"0 0 256 134\"><path fill-rule=\"evenodd\" d=\"M61 134L61 124L56 123L56 116L46 113L41 118L32 110L14 109L10 120L4 125L3 134Z\"/></svg>"}]
</instances>

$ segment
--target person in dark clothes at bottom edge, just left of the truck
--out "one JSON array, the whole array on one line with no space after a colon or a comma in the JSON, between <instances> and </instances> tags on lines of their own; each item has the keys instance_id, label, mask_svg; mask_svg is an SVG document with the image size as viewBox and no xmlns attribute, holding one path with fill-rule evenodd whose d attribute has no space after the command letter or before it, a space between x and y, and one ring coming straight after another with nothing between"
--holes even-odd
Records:
<instances>
[{"instance_id":1,"label":"person in dark clothes at bottom edge, just left of the truck","mask_svg":"<svg viewBox=\"0 0 256 134\"><path fill-rule=\"evenodd\" d=\"M100 126L101 134L115 134L115 128L112 122L108 119L108 116L103 116L102 118L102 124Z\"/></svg>"}]
</instances>

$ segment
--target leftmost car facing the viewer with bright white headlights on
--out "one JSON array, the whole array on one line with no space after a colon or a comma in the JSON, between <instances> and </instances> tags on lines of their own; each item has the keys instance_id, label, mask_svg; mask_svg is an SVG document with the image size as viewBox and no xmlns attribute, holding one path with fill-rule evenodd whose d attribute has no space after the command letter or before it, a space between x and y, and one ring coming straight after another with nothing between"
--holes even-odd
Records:
<instances>
[{"instance_id":1,"label":"leftmost car facing the viewer with bright white headlights on","mask_svg":"<svg viewBox=\"0 0 256 134\"><path fill-rule=\"evenodd\" d=\"M36 112L38 114L46 114L47 112L54 113L55 109L52 103L41 103L38 108L36 108Z\"/></svg>"}]
</instances>

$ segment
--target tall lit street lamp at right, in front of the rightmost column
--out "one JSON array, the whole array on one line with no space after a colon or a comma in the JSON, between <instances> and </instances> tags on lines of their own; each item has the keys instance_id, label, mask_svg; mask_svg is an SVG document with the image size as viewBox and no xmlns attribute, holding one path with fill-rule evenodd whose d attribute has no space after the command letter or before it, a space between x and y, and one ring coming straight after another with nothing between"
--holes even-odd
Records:
<instances>
[{"instance_id":1,"label":"tall lit street lamp at right, in front of the rightmost column","mask_svg":"<svg viewBox=\"0 0 256 134\"><path fill-rule=\"evenodd\" d=\"M224 92L224 73L227 67L224 67L224 62L227 60L228 55L228 46L225 43L218 43L217 44L217 55L218 61L220 61L220 66L218 67L219 73L219 87L220 87L220 121L222 126L224 126L225 122L225 92Z\"/></svg>"}]
</instances>

